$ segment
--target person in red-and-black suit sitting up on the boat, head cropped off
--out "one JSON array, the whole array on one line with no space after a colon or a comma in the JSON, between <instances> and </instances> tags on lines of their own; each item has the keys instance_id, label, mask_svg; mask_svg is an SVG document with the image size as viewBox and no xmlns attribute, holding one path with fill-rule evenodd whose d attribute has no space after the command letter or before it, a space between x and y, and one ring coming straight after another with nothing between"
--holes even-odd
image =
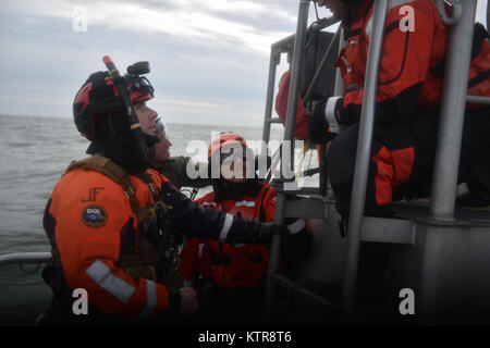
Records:
<instances>
[{"instance_id":1,"label":"person in red-and-black suit sitting up on the boat, head cropped off","mask_svg":"<svg viewBox=\"0 0 490 348\"><path fill-rule=\"evenodd\" d=\"M324 141L329 126L341 126L330 144L327 164L335 194L336 209L346 219L351 203L364 76L372 26L372 0L318 0L342 20L346 47L336 65L344 85L344 97L318 103L309 117L311 140ZM403 27L406 12L413 21ZM401 27L402 26L402 27ZM377 91L371 161L368 172L365 214L391 216L390 203L402 198L427 197L432 179L442 78L446 55L448 27L433 1L389 1ZM490 46L485 28L475 25L468 95L490 96ZM467 204L490 204L490 109L466 105L460 182L470 191ZM378 248L379 247L379 248ZM370 249L372 252L369 252ZM364 244L359 274L367 283L382 283L388 251ZM371 262L363 253L370 253ZM380 265L372 266L373 263ZM376 293L375 290L373 293Z\"/></svg>"}]
</instances>

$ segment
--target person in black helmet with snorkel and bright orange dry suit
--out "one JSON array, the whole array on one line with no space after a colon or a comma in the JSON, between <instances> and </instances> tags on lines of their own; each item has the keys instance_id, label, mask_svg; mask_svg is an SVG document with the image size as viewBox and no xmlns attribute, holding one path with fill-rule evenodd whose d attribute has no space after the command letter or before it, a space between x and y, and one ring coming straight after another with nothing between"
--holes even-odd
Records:
<instances>
[{"instance_id":1,"label":"person in black helmet with snorkel and bright orange dry suit","mask_svg":"<svg viewBox=\"0 0 490 348\"><path fill-rule=\"evenodd\" d=\"M127 324L188 315L198 306L195 290L161 283L169 239L179 241L185 233L228 243L268 243L270 234L281 233L271 224L199 208L164 176L147 170L148 148L143 147L148 151L143 154L136 148L123 113L133 107L121 92L136 104L151 99L154 89L139 75L122 78L124 87L118 88L108 72L94 73L75 97L75 125L90 141L91 157L69 166L45 210L53 258L42 277L54 296L41 324ZM150 149L158 141L148 135L143 139ZM75 289L84 289L88 299L88 311L79 315Z\"/></svg>"}]
</instances>

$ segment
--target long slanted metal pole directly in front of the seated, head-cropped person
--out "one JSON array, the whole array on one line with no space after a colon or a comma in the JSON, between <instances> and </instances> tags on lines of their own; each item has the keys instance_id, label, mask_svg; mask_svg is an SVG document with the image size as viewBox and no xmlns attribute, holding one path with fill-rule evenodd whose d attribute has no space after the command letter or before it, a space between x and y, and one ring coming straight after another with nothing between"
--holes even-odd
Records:
<instances>
[{"instance_id":1,"label":"long slanted metal pole directly in front of the seated, head-cropped person","mask_svg":"<svg viewBox=\"0 0 490 348\"><path fill-rule=\"evenodd\" d=\"M363 107L360 112L359 137L357 141L356 166L348 215L347 250L344 277L342 279L342 314L354 310L356 297L357 263L359 258L360 232L364 206L366 201L367 176L375 126L375 107L378 86L378 72L383 42L383 28L387 17L388 0L375 1L372 12L372 35L369 42L368 62L364 84Z\"/></svg>"}]
</instances>

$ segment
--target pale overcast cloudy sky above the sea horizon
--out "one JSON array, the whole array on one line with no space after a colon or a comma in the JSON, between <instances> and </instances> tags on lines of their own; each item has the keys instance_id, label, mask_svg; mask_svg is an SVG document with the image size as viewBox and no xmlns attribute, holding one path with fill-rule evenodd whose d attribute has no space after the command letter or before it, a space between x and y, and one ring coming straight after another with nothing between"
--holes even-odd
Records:
<instances>
[{"instance_id":1,"label":"pale overcast cloudy sky above the sea horizon","mask_svg":"<svg viewBox=\"0 0 490 348\"><path fill-rule=\"evenodd\" d=\"M109 54L121 71L150 62L149 105L169 123L261 126L270 45L295 30L298 3L0 0L0 114L71 117L76 91ZM478 5L485 23L487 0Z\"/></svg>"}]
</instances>

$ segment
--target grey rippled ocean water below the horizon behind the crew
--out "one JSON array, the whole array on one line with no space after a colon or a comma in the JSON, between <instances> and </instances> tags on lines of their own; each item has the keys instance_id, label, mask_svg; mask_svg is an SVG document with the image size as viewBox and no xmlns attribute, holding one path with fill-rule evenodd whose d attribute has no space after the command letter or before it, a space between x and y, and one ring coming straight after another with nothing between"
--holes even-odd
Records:
<instances>
[{"instance_id":1,"label":"grey rippled ocean water below the horizon behind the crew","mask_svg":"<svg viewBox=\"0 0 490 348\"><path fill-rule=\"evenodd\" d=\"M209 144L211 132L234 130L254 140L262 136L261 128L182 124L168 128L172 156L189 156L188 141ZM42 229L45 204L70 162L86 157L88 141L69 117L0 115L0 254L49 251ZM271 139L282 136L280 127L272 129ZM42 282L42 268L0 266L0 325L33 324L49 307L51 290Z\"/></svg>"}]
</instances>

